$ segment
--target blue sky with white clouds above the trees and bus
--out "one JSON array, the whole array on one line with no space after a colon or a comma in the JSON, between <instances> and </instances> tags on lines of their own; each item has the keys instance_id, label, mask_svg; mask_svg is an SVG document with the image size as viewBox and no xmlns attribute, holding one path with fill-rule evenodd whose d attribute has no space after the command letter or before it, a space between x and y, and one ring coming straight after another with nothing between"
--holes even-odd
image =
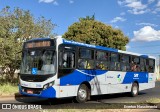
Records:
<instances>
[{"instance_id":1,"label":"blue sky with white clouds above the trees and bus","mask_svg":"<svg viewBox=\"0 0 160 112\"><path fill-rule=\"evenodd\" d=\"M96 20L129 37L127 51L160 55L160 0L0 0L0 10L5 6L51 19L59 36L78 18L94 14Z\"/></svg>"}]
</instances>

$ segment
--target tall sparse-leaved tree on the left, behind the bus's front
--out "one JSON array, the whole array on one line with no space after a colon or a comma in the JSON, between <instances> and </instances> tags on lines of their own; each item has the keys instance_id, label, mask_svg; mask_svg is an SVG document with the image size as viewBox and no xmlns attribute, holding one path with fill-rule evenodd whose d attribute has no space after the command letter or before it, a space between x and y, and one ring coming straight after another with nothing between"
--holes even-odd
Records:
<instances>
[{"instance_id":1,"label":"tall sparse-leaved tree on the left, behind the bus's front","mask_svg":"<svg viewBox=\"0 0 160 112\"><path fill-rule=\"evenodd\" d=\"M31 38L54 37L55 24L44 17L34 18L30 11L11 10L9 6L0 11L0 23L0 67L5 78L13 81L13 74L20 65L15 63L15 55L22 50L23 42ZM16 59L20 57L19 53Z\"/></svg>"}]
</instances>

